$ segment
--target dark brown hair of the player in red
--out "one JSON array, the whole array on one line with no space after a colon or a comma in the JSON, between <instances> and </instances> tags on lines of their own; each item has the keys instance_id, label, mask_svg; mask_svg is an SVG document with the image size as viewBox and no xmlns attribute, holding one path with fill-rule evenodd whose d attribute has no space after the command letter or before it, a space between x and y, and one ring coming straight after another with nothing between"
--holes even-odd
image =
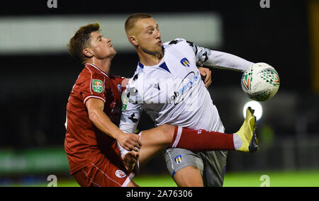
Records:
<instances>
[{"instance_id":1,"label":"dark brown hair of the player in red","mask_svg":"<svg viewBox=\"0 0 319 201\"><path fill-rule=\"evenodd\" d=\"M77 30L74 36L69 40L69 45L67 45L69 48L69 54L71 54L71 56L79 62L84 62L86 56L82 51L89 45L91 33L99 30L99 23L88 24L79 28L79 30Z\"/></svg>"}]
</instances>

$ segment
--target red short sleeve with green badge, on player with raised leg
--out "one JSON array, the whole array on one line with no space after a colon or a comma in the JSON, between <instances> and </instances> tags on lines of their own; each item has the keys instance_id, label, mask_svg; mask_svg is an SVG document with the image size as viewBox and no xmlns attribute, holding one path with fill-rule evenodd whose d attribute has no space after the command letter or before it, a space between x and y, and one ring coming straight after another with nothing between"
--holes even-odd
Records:
<instances>
[{"instance_id":1,"label":"red short sleeve with green badge, on player with raised leg","mask_svg":"<svg viewBox=\"0 0 319 201\"><path fill-rule=\"evenodd\" d=\"M80 75L82 76L81 83L81 96L82 101L85 104L89 98L99 98L104 103L106 102L106 97L104 94L106 79L101 74L96 74L90 69L86 69L87 73Z\"/></svg>"}]
</instances>

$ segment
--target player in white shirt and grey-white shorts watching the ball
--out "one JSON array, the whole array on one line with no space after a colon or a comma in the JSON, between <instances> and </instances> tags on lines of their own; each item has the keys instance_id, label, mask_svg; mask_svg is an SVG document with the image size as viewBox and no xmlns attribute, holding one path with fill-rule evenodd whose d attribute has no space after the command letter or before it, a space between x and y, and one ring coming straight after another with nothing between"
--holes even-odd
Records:
<instances>
[{"instance_id":1,"label":"player in white shirt and grey-white shorts watching the ball","mask_svg":"<svg viewBox=\"0 0 319 201\"><path fill-rule=\"evenodd\" d=\"M145 13L130 16L125 31L140 62L122 99L120 129L135 132L140 113L145 110L157 126L169 124L224 132L196 64L244 71L253 63L233 54L198 47L181 38L162 44L157 22ZM252 115L250 110L247 113ZM178 140L177 136L176 144ZM227 154L227 151L170 148L165 159L179 186L222 186Z\"/></svg>"}]
</instances>

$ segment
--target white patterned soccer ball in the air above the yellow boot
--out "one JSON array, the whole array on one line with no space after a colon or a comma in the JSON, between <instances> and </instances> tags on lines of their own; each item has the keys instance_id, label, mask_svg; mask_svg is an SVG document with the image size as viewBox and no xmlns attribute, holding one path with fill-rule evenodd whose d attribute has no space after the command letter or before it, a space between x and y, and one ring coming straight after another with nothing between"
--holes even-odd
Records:
<instances>
[{"instance_id":1,"label":"white patterned soccer ball in the air above the yellow boot","mask_svg":"<svg viewBox=\"0 0 319 201\"><path fill-rule=\"evenodd\" d=\"M266 63L256 63L242 74L242 90L254 101L267 101L278 91L279 74Z\"/></svg>"}]
</instances>

